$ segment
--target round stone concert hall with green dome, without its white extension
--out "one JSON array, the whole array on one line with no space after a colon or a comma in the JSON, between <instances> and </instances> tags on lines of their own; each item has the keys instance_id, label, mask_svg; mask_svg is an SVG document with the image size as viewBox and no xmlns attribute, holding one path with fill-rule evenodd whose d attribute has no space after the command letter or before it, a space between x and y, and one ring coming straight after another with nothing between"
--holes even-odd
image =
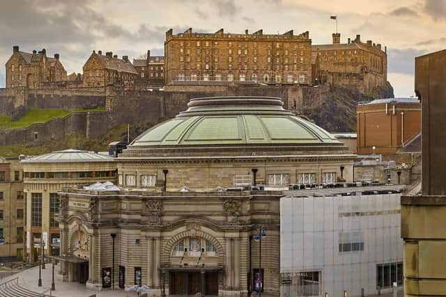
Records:
<instances>
[{"instance_id":1,"label":"round stone concert hall with green dome, without its white extension","mask_svg":"<svg viewBox=\"0 0 446 297\"><path fill-rule=\"evenodd\" d=\"M59 191L59 273L157 296L246 295L261 275L279 295L282 191L352 182L354 160L279 98L191 99L118 156L117 187Z\"/></svg>"}]
</instances>

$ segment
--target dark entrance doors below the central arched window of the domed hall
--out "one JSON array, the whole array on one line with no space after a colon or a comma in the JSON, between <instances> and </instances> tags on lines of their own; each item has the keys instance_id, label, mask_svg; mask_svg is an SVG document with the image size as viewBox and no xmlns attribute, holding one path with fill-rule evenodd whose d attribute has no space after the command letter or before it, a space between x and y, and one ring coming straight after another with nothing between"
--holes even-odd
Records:
<instances>
[{"instance_id":1,"label":"dark entrance doors below the central arched window of the domed hall","mask_svg":"<svg viewBox=\"0 0 446 297\"><path fill-rule=\"evenodd\" d=\"M170 273L171 295L195 295L201 292L200 271L175 271ZM206 295L218 295L218 273L206 272L204 277Z\"/></svg>"}]
</instances>

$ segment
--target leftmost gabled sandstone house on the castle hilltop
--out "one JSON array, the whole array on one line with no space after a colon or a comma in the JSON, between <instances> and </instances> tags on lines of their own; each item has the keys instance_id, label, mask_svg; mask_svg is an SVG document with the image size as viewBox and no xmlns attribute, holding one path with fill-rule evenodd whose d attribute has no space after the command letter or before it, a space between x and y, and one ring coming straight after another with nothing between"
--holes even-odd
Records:
<instances>
[{"instance_id":1,"label":"leftmost gabled sandstone house on the castle hilltop","mask_svg":"<svg viewBox=\"0 0 446 297\"><path fill-rule=\"evenodd\" d=\"M45 83L63 83L67 72L59 54L47 56L46 49L26 53L19 46L13 47L13 55L6 62L6 88L43 88Z\"/></svg>"}]
</instances>

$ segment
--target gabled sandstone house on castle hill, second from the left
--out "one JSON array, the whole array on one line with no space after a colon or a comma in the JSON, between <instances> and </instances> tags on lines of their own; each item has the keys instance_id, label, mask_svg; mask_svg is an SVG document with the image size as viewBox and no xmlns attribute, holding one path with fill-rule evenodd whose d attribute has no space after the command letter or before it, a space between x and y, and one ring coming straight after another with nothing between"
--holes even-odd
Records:
<instances>
[{"instance_id":1,"label":"gabled sandstone house on castle hill, second from the left","mask_svg":"<svg viewBox=\"0 0 446 297\"><path fill-rule=\"evenodd\" d=\"M131 88L137 78L138 72L128 60L128 56L122 59L107 51L95 51L86 61L83 70L84 87L91 86L125 86Z\"/></svg>"}]
</instances>

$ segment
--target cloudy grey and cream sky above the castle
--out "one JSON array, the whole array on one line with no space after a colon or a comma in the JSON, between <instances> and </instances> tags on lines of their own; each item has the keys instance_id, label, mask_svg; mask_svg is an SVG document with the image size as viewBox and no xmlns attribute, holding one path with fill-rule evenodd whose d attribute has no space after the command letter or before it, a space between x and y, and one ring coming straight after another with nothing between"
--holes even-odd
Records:
<instances>
[{"instance_id":1,"label":"cloudy grey and cream sky above the castle","mask_svg":"<svg viewBox=\"0 0 446 297\"><path fill-rule=\"evenodd\" d=\"M1 0L0 61L13 45L61 54L67 71L81 72L93 49L134 58L163 53L165 31L310 32L331 42L337 15L342 42L387 45L395 95L413 95L414 57L446 48L446 0ZM0 87L4 86L4 66Z\"/></svg>"}]
</instances>

